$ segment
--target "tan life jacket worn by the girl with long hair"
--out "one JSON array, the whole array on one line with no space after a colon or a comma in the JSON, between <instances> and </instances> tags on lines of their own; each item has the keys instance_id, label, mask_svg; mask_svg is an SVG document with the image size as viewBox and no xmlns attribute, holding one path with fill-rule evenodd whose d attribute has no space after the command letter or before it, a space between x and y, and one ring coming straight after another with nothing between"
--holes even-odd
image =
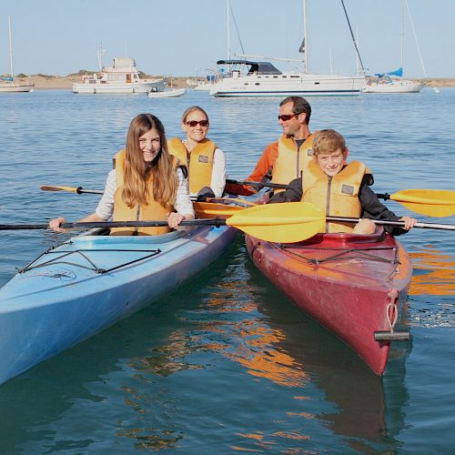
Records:
<instances>
[{"instance_id":1,"label":"tan life jacket worn by the girl with long hair","mask_svg":"<svg viewBox=\"0 0 455 455\"><path fill-rule=\"evenodd\" d=\"M172 211L172 207L163 207L153 197L153 177L148 177L147 206L136 204L134 207L126 206L123 200L124 187L124 168L126 151L121 150L114 157L114 167L116 169L116 194L114 195L114 221L147 221L147 220L167 220L167 215ZM177 168L179 162L174 158L174 166ZM111 229L111 236L158 236L169 232L169 227L114 227Z\"/></svg>"}]
</instances>

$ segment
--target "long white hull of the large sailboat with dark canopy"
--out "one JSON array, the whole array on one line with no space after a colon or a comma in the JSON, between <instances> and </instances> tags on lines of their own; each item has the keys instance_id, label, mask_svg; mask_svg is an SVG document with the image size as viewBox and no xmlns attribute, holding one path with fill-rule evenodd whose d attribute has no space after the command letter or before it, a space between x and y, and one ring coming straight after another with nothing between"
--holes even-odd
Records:
<instances>
[{"instance_id":1,"label":"long white hull of the large sailboat with dark canopy","mask_svg":"<svg viewBox=\"0 0 455 455\"><path fill-rule=\"evenodd\" d=\"M329 76L305 73L224 77L210 95L231 96L357 96L365 86L364 76Z\"/></svg>"}]
</instances>

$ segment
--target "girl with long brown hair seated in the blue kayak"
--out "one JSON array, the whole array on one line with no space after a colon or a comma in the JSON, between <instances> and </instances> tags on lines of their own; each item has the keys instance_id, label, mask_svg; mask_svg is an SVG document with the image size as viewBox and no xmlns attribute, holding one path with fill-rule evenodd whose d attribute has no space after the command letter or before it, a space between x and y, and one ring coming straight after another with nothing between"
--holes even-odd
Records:
<instances>
[{"instance_id":1,"label":"girl with long brown hair seated in the blue kayak","mask_svg":"<svg viewBox=\"0 0 455 455\"><path fill-rule=\"evenodd\" d=\"M187 191L187 169L167 152L165 128L156 116L139 114L131 122L126 147L114 157L114 169L95 213L79 221L167 219L167 227L116 227L111 235L159 235L193 219ZM49 227L63 232L64 217L51 219Z\"/></svg>"}]
</instances>

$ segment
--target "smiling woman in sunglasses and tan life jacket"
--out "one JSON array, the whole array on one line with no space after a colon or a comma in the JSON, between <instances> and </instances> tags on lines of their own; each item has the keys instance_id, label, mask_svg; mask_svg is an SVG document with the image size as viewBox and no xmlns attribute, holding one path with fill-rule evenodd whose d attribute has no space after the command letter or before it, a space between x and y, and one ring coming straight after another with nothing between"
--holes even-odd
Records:
<instances>
[{"instance_id":1,"label":"smiling woman in sunglasses and tan life jacket","mask_svg":"<svg viewBox=\"0 0 455 455\"><path fill-rule=\"evenodd\" d=\"M226 185L225 155L207 138L208 126L202 107L188 107L182 116L186 138L167 142L169 153L187 165L190 196L221 197Z\"/></svg>"}]
</instances>

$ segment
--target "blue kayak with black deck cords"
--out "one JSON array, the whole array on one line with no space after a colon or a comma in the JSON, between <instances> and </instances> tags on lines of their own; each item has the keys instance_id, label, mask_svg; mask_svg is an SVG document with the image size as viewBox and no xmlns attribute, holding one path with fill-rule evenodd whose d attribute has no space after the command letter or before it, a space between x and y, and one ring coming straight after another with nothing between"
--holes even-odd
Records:
<instances>
[{"instance_id":1,"label":"blue kayak with black deck cords","mask_svg":"<svg viewBox=\"0 0 455 455\"><path fill-rule=\"evenodd\" d=\"M194 278L235 236L233 227L89 232L46 251L0 289L0 384Z\"/></svg>"}]
</instances>

